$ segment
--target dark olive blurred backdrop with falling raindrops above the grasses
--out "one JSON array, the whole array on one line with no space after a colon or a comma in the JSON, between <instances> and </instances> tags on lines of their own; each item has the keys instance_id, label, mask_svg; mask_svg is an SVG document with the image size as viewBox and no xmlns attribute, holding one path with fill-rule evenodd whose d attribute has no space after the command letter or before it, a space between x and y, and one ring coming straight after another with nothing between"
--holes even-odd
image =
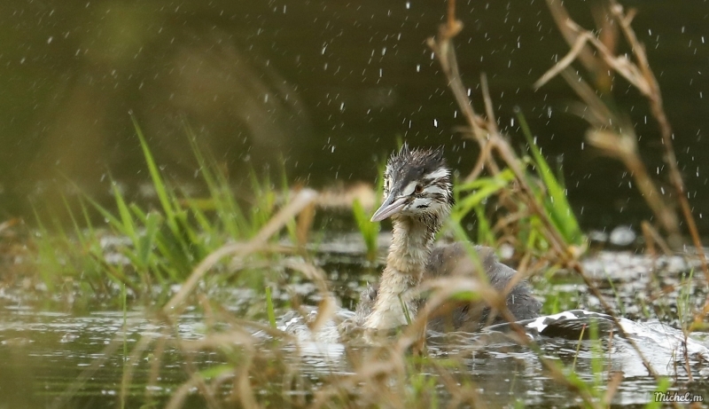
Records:
<instances>
[{"instance_id":1,"label":"dark olive blurred backdrop with falling raindrops above the grasses","mask_svg":"<svg viewBox=\"0 0 709 409\"><path fill-rule=\"evenodd\" d=\"M458 2L456 38L464 81L481 106L486 72L503 130L520 106L565 183L585 227L650 216L616 161L583 144L586 124L556 79L538 79L568 51L542 1ZM587 28L599 2L566 4ZM709 6L705 2L623 2L664 92L690 203L709 232ZM445 2L6 0L0 4L0 218L31 218L30 203L61 205L74 183L101 198L110 178L149 200L136 115L157 161L189 185L193 160L185 126L238 185L248 169L285 171L313 186L373 182L377 158L396 145L445 145L463 174L477 147L438 62L425 45ZM645 101L615 84L651 173L666 180L662 148ZM666 187L667 194L671 189ZM705 213L706 213L705 211Z\"/></svg>"}]
</instances>

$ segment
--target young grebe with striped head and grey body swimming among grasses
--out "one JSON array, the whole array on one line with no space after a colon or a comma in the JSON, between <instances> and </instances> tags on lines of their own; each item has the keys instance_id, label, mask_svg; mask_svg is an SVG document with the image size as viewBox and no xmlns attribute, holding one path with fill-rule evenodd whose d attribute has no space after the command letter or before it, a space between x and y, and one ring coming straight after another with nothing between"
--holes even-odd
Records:
<instances>
[{"instance_id":1,"label":"young grebe with striped head and grey body swimming among grasses","mask_svg":"<svg viewBox=\"0 0 709 409\"><path fill-rule=\"evenodd\" d=\"M517 273L499 263L492 248L477 247L479 263L473 263L462 243L435 246L433 240L454 204L450 170L441 149L409 149L406 144L386 163L384 203L371 217L373 222L392 218L393 237L386 256L386 267L378 287L362 293L356 320L365 328L390 329L407 324L401 303L409 316L417 313L420 301L411 295L422 280L451 274L474 277L482 265L489 283L503 291ZM507 308L515 319L539 316L541 303L525 282L519 282L506 297ZM429 321L437 331L475 331L487 323L490 309L466 303L449 317ZM500 319L493 323L501 322Z\"/></svg>"}]
</instances>

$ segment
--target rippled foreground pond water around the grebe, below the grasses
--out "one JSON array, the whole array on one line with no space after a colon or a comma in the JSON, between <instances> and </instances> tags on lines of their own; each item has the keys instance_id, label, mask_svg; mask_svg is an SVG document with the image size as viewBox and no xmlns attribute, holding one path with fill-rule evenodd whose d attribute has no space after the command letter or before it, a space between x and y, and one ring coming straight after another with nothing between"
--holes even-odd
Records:
<instances>
[{"instance_id":1,"label":"rippled foreground pond water around the grebe, below the grasses","mask_svg":"<svg viewBox=\"0 0 709 409\"><path fill-rule=\"evenodd\" d=\"M382 241L386 241L386 236ZM353 242L347 237L341 242L330 242L323 248L345 251L319 256L323 270L331 274L331 288L347 308L354 306L353 300L364 282L374 279L373 272L378 269L356 256L361 247L353 246ZM656 320L652 324L651 321L648 327L679 327L682 323L677 313L679 299L686 295L697 303L705 299L701 281L686 275L695 263L691 259L662 257L653 263L648 257L629 252L600 252L588 257L584 263L613 308L623 311L627 317L643 321L647 320L647 309L651 309L651 317L659 317L664 323L660 325ZM629 268L630 265L635 266L634 269ZM660 287L674 286L676 291L667 292L660 301L645 299L643 294L649 294L648 286L658 285L655 282L658 277L662 280ZM540 279L534 281L534 287L541 295L555 295L562 299L561 308L565 310L598 309L597 300L588 295L576 279L557 276L552 283ZM315 286L306 282L293 288L306 303L316 304L318 293ZM564 299L563 294L568 296ZM245 310L244 305L248 305L250 296L253 297L253 293L241 288L221 288L210 295L236 316ZM284 293L275 293L276 299L282 296ZM120 407L122 376L129 365L123 352L124 342L130 353L141 339L147 337L153 340L151 347L135 365L130 365L133 376L126 407L144 404L163 407L189 376L185 371L184 356L174 347L168 347L159 359L156 358L157 343L154 340L175 341L179 338L185 342L197 342L208 332L208 320L194 310L176 319L175 326L168 325L155 311L131 310L125 318L127 330L124 332L122 311L102 311L100 306L71 308L68 305L71 304L66 300L47 300L41 293L0 289L0 366L3 367L0 372L0 396L3 397L0 408ZM279 326L288 327L288 331L293 332L296 327L292 325L294 317L300 315L292 311L279 312ZM347 317L347 311L341 315ZM222 330L233 326L235 324L225 323ZM574 365L575 373L581 379L590 383L596 381L601 388L609 382L606 378L609 371L622 372L623 381L613 402L630 406L649 402L657 382L647 373L627 342L617 335L612 336L612 326L598 327L600 344L588 340L579 342L578 330L576 327L575 333L566 336L535 336L542 356L565 366ZM275 360L272 365L285 365L312 382L313 389L291 392L304 394L298 398L306 399L305 402L312 398L309 395L312 390L318 389L318 382L353 374L357 362L353 357L370 348L361 340L350 344L352 340L340 341L338 337L310 339L300 336L298 348L295 344L285 343L279 344L277 351L269 352L274 348L270 337L255 328L248 331L254 334L256 349L263 352L264 362ZM460 385L472 385L468 388L494 407L516 402L544 406L580 405L576 394L550 377L533 350L512 342L506 333L504 328L498 328L479 334L430 334L428 354L456 362L456 366L448 368L447 374ZM693 336L701 348L709 346L705 334ZM643 353L651 358L658 373L674 381L674 389L709 399L709 382L706 381L709 375L706 358L709 357L691 355L688 374L684 370L684 361L672 356L676 350L655 343L657 340L638 340L643 342ZM227 362L222 354L204 351L194 354L192 359L193 365L200 370ZM604 368L600 379L596 378L599 363ZM269 367L270 364L262 365ZM436 373L424 375L440 376ZM279 385L256 383L255 388L272 403L297 400L292 395L284 395L284 389L279 389ZM219 393L226 396L230 390L225 387ZM452 398L447 389L438 389L436 394L441 402ZM353 398L357 399L356 393ZM184 407L206 405L196 389L191 389L186 399Z\"/></svg>"}]
</instances>

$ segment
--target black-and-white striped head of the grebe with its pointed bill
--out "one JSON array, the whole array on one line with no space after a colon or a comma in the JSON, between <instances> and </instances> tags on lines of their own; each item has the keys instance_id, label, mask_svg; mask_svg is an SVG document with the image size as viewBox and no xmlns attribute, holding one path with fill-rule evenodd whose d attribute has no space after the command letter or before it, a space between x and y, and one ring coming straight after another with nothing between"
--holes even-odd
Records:
<instances>
[{"instance_id":1,"label":"black-and-white striped head of the grebe with its pointed bill","mask_svg":"<svg viewBox=\"0 0 709 409\"><path fill-rule=\"evenodd\" d=\"M409 216L437 230L453 204L442 148L409 149L404 144L386 163L384 203L371 220Z\"/></svg>"}]
</instances>

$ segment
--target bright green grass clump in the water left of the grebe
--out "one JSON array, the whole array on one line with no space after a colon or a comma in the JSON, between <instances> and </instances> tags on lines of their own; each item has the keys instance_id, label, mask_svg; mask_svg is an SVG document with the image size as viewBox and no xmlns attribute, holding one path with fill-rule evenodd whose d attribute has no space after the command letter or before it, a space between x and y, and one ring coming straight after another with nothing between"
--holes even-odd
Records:
<instances>
[{"instance_id":1,"label":"bright green grass clump in the water left of the grebe","mask_svg":"<svg viewBox=\"0 0 709 409\"><path fill-rule=\"evenodd\" d=\"M178 194L180 190L160 172L135 119L134 125L160 207L146 209L129 203L119 185L112 182L115 212L82 196L82 224L65 200L74 227L71 235L56 217L54 230L50 231L35 212L39 226L35 238L37 271L48 288L74 279L79 286L90 289L84 294L110 295L111 283L117 283L127 286L137 297L153 295L156 289L159 294L168 295L169 286L183 282L214 250L232 240L253 238L273 216L277 201L288 201L287 186L273 189L268 177L256 177L252 172L252 201L245 210L215 161L207 159L199 149L189 128L188 138L208 195L207 199L196 199L186 193ZM91 209L103 216L107 231L97 229L91 222ZM294 218L287 224L294 226ZM296 230L292 228L289 232ZM249 287L264 285L264 276L260 275L255 282L253 277L256 276L247 278L251 281Z\"/></svg>"}]
</instances>

